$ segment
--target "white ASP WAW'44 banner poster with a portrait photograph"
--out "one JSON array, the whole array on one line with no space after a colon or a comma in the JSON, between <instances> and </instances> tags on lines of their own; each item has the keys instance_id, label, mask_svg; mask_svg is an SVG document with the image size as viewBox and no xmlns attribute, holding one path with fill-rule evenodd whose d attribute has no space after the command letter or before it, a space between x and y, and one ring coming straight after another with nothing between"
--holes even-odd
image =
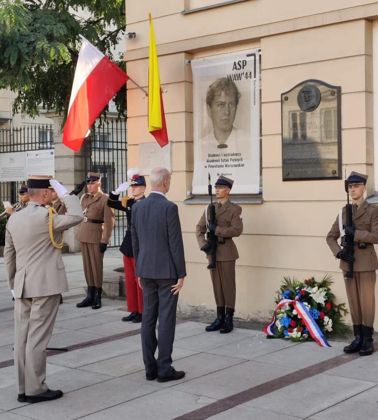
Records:
<instances>
[{"instance_id":1,"label":"white ASP WAW'44 banner poster with a portrait photograph","mask_svg":"<svg viewBox=\"0 0 378 420\"><path fill-rule=\"evenodd\" d=\"M260 186L260 75L258 50L191 61L193 72L193 194L208 193L220 175L233 194Z\"/></svg>"}]
</instances>

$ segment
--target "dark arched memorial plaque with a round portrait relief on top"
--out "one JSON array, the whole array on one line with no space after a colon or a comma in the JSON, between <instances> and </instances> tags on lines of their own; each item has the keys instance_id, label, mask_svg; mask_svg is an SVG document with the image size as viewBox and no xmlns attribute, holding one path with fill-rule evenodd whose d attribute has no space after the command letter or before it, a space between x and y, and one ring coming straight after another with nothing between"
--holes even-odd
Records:
<instances>
[{"instance_id":1,"label":"dark arched memorial plaque with a round portrait relief on top","mask_svg":"<svg viewBox=\"0 0 378 420\"><path fill-rule=\"evenodd\" d=\"M281 94L282 180L339 180L340 86L305 80Z\"/></svg>"}]
</instances>

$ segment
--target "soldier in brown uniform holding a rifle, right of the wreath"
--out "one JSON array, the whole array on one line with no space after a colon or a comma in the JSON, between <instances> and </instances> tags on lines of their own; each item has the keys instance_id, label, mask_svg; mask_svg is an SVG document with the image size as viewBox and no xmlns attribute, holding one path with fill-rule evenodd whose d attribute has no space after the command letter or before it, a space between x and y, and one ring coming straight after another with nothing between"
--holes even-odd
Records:
<instances>
[{"instance_id":1,"label":"soldier in brown uniform holding a rifle, right of the wreath","mask_svg":"<svg viewBox=\"0 0 378 420\"><path fill-rule=\"evenodd\" d=\"M378 259L373 243L378 243L378 207L364 200L367 175L351 172L348 177L349 193L353 200L353 226L346 226L345 207L341 223L345 234L354 236L354 256L342 250L337 243L340 236L339 217L327 235L327 243L333 255L340 259L340 268L345 274L353 263L353 278L345 278L345 287L355 339L344 347L345 353L359 352L361 356L373 353L373 324L375 314L375 270Z\"/></svg>"}]
</instances>

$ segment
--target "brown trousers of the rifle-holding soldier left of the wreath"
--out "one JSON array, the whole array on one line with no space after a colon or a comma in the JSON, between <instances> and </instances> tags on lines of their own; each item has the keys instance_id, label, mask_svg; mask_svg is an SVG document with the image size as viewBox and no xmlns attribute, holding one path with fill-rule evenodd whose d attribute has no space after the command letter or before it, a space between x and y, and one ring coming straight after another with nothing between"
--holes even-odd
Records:
<instances>
[{"instance_id":1,"label":"brown trousers of the rifle-holding soldier left of the wreath","mask_svg":"<svg viewBox=\"0 0 378 420\"><path fill-rule=\"evenodd\" d=\"M210 270L217 306L235 308L235 260L217 261L216 268Z\"/></svg>"}]
</instances>

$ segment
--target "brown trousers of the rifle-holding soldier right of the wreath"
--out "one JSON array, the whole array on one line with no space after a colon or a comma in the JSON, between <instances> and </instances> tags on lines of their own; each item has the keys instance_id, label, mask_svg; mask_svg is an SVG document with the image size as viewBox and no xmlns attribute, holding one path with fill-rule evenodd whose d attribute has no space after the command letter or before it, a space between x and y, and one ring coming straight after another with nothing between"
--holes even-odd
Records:
<instances>
[{"instance_id":1,"label":"brown trousers of the rifle-holding soldier right of the wreath","mask_svg":"<svg viewBox=\"0 0 378 420\"><path fill-rule=\"evenodd\" d=\"M353 325L373 327L375 315L375 271L355 271L345 278Z\"/></svg>"}]
</instances>

